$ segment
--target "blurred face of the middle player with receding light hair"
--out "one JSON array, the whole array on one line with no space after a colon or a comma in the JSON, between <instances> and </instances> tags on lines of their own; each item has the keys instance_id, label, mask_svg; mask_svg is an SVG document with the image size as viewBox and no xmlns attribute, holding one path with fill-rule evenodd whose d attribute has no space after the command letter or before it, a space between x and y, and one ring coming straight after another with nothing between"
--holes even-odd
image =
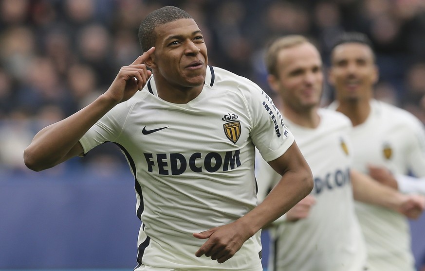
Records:
<instances>
[{"instance_id":1,"label":"blurred face of the middle player with receding light hair","mask_svg":"<svg viewBox=\"0 0 425 271\"><path fill-rule=\"evenodd\" d=\"M304 111L320 103L323 72L319 52L311 43L302 43L279 51L278 77L269 75L269 83L282 98L284 106Z\"/></svg>"}]
</instances>

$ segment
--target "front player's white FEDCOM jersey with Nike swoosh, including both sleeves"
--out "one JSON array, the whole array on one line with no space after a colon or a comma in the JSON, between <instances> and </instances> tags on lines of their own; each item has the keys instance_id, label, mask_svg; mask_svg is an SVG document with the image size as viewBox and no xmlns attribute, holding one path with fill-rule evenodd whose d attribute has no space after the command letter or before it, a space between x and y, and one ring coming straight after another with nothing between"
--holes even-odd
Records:
<instances>
[{"instance_id":1,"label":"front player's white FEDCOM jersey with Nike swoosh, including both sleeves","mask_svg":"<svg viewBox=\"0 0 425 271\"><path fill-rule=\"evenodd\" d=\"M233 222L257 205L255 146L267 160L282 155L293 135L270 97L246 78L207 67L198 97L175 104L158 97L151 77L84 135L84 152L111 141L135 177L140 264L184 270L261 268L260 232L219 264L195 252L192 236Z\"/></svg>"}]
</instances>

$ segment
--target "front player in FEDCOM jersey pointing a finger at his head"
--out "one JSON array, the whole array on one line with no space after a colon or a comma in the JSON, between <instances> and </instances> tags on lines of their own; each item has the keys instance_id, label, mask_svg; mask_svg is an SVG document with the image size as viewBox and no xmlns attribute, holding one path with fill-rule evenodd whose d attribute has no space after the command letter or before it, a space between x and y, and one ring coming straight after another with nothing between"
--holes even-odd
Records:
<instances>
[{"instance_id":1,"label":"front player in FEDCOM jersey pointing a finger at his head","mask_svg":"<svg viewBox=\"0 0 425 271\"><path fill-rule=\"evenodd\" d=\"M144 54L90 105L41 130L26 165L47 169L115 142L135 177L137 270L262 270L260 229L313 188L293 135L258 85L207 65L185 11L153 11L139 39ZM255 147L281 175L258 206Z\"/></svg>"}]
</instances>

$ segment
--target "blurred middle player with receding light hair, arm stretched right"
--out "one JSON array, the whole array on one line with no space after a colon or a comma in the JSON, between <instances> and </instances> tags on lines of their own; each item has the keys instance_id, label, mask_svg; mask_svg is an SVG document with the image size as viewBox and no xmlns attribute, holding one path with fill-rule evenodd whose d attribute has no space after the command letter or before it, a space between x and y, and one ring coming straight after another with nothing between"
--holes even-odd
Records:
<instances>
[{"instance_id":1,"label":"blurred middle player with receding light hair, arm stretched right","mask_svg":"<svg viewBox=\"0 0 425 271\"><path fill-rule=\"evenodd\" d=\"M271 228L272 271L362 271L366 249L354 212L354 197L417 216L424 202L351 172L351 122L341 113L320 109L323 86L319 52L305 37L277 39L266 52L268 81L287 126L309 163L315 187ZM259 199L279 176L258 159ZM351 176L352 186L351 187Z\"/></svg>"}]
</instances>

